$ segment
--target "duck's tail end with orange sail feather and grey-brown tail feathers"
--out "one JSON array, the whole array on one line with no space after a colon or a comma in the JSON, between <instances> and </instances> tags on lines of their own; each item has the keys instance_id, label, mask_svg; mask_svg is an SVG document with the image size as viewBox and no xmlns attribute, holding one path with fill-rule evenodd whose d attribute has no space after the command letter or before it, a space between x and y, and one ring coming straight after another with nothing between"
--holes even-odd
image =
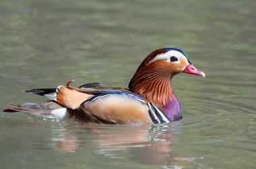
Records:
<instances>
[{"instance_id":1,"label":"duck's tail end with orange sail feather and grey-brown tail feathers","mask_svg":"<svg viewBox=\"0 0 256 169\"><path fill-rule=\"evenodd\" d=\"M44 103L25 103L23 105L8 105L3 111L42 114L60 113L62 115L67 111L67 108L77 109L83 101L92 95L75 91L75 88L70 87L70 84L73 81L74 80L70 80L67 82L67 87L59 86L57 89L32 89L26 91L27 93L47 97L53 101L46 101Z\"/></svg>"}]
</instances>

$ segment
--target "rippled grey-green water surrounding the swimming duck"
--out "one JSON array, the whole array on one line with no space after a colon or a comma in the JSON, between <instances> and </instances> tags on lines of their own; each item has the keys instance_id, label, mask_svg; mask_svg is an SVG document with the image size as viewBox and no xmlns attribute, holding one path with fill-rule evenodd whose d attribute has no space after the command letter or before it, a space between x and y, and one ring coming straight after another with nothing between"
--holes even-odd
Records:
<instances>
[{"instance_id":1,"label":"rippled grey-green water surrounding the swimming duck","mask_svg":"<svg viewBox=\"0 0 256 169\"><path fill-rule=\"evenodd\" d=\"M256 3L0 1L0 108L28 89L127 87L141 60L180 48L206 77L172 80L184 118L92 125L0 113L0 168L256 168Z\"/></svg>"}]
</instances>

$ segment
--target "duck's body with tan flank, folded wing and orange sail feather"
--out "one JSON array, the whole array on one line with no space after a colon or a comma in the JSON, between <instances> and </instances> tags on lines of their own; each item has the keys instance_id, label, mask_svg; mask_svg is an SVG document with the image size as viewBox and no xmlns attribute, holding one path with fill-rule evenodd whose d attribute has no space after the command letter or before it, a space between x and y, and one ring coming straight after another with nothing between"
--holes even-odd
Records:
<instances>
[{"instance_id":1,"label":"duck's body with tan flank, folded wing and orange sail feather","mask_svg":"<svg viewBox=\"0 0 256 169\"><path fill-rule=\"evenodd\" d=\"M83 99L77 101L77 98ZM82 100L84 101L81 103ZM127 89L110 87L76 89L61 86L58 87L57 102L65 107L77 109L85 114L86 119L94 123L168 122L168 118L157 107Z\"/></svg>"}]
</instances>

